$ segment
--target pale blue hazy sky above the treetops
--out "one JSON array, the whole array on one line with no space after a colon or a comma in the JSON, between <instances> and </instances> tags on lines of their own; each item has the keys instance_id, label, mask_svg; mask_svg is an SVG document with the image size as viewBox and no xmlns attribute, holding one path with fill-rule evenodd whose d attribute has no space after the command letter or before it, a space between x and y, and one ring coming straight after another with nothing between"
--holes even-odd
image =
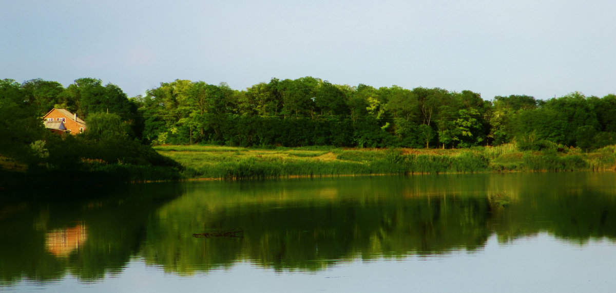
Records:
<instances>
[{"instance_id":1,"label":"pale blue hazy sky above the treetops","mask_svg":"<svg viewBox=\"0 0 616 293\"><path fill-rule=\"evenodd\" d=\"M616 93L613 0L0 0L0 79Z\"/></svg>"}]
</instances>

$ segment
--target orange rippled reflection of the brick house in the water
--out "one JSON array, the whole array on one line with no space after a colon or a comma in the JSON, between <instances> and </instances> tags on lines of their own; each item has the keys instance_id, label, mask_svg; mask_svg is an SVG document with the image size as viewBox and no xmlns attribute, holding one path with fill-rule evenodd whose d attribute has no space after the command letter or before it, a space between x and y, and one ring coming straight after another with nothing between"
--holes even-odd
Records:
<instances>
[{"instance_id":1,"label":"orange rippled reflection of the brick house in the water","mask_svg":"<svg viewBox=\"0 0 616 293\"><path fill-rule=\"evenodd\" d=\"M79 223L71 228L54 229L45 235L45 247L56 257L67 257L87 240L86 225Z\"/></svg>"}]
</instances>

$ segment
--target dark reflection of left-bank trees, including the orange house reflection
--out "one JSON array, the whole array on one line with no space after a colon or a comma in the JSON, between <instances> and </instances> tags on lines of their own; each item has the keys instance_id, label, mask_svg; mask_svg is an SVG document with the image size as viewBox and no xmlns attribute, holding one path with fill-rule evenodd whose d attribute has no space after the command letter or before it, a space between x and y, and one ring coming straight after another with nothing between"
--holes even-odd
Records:
<instances>
[{"instance_id":1,"label":"dark reflection of left-bank trees, including the orange house reflection","mask_svg":"<svg viewBox=\"0 0 616 293\"><path fill-rule=\"evenodd\" d=\"M0 281L83 280L123 270L139 252L148 215L181 192L178 184L77 191L78 200L5 204L0 217ZM45 192L45 191L38 191Z\"/></svg>"}]
</instances>

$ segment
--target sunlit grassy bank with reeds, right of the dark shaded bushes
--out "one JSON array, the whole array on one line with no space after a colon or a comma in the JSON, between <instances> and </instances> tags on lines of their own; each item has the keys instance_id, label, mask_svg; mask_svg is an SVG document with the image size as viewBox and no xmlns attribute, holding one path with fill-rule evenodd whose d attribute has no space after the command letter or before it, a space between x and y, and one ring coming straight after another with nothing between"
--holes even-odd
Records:
<instances>
[{"instance_id":1,"label":"sunlit grassy bank with reeds, right of the dark shaded bushes","mask_svg":"<svg viewBox=\"0 0 616 293\"><path fill-rule=\"evenodd\" d=\"M279 178L487 171L614 170L616 147L519 151L515 144L469 149L343 149L156 146L185 167L185 178Z\"/></svg>"}]
</instances>

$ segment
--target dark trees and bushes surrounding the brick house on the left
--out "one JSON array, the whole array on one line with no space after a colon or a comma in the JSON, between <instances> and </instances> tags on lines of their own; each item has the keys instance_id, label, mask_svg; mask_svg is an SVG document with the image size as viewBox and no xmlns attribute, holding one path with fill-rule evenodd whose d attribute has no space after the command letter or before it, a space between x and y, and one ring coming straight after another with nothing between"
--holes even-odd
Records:
<instances>
[{"instance_id":1,"label":"dark trees and bushes surrounding the brick house on the left","mask_svg":"<svg viewBox=\"0 0 616 293\"><path fill-rule=\"evenodd\" d=\"M84 117L88 130L76 136L47 131L42 117L54 107ZM179 178L179 164L142 144L136 109L118 86L92 78L66 89L52 81L0 81L0 156L28 170L28 176L2 176L10 182L0 186Z\"/></svg>"}]
</instances>

